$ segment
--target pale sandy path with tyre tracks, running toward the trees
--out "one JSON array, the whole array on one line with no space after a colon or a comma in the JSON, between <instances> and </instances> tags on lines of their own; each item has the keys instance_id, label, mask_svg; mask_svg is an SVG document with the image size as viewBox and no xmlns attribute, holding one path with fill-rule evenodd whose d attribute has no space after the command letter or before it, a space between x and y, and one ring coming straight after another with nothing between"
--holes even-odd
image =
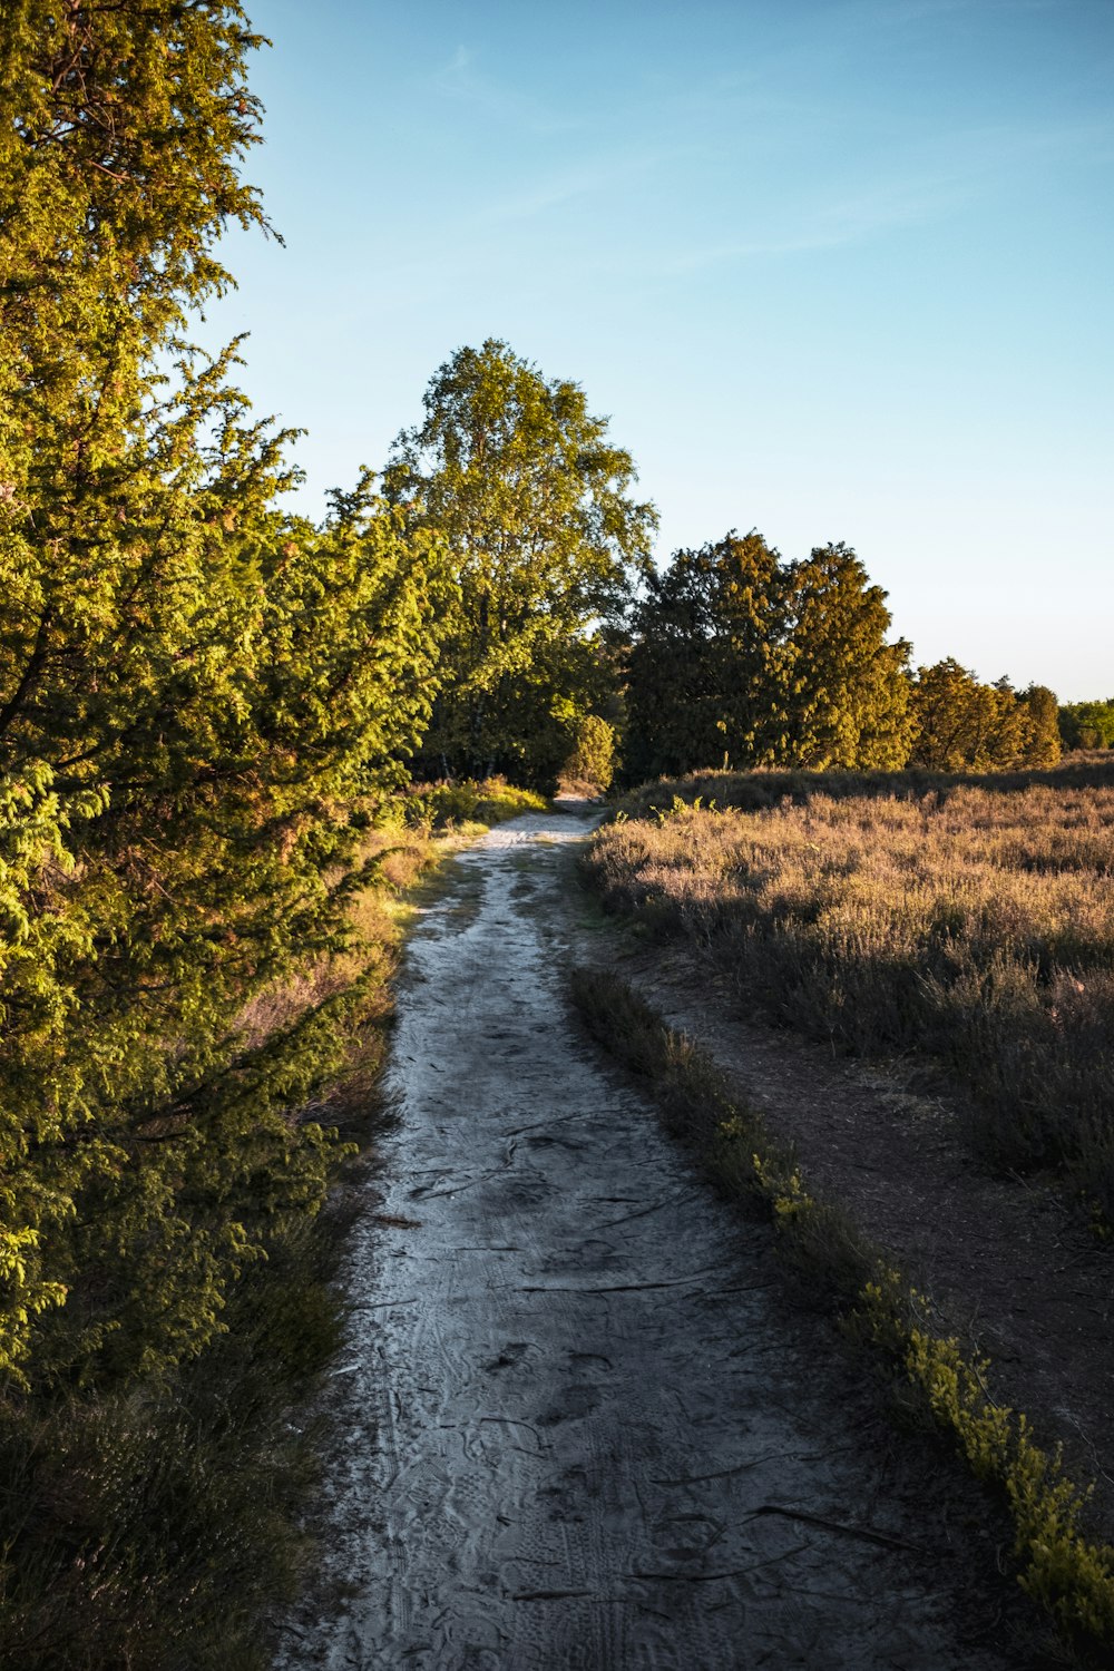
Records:
<instances>
[{"instance_id":1,"label":"pale sandy path with tyre tracks, running toward the trees","mask_svg":"<svg viewBox=\"0 0 1114 1671\"><path fill-rule=\"evenodd\" d=\"M965 1556L785 1313L768 1230L576 1038L563 844L586 829L494 830L411 942L331 1382L334 1592L279 1664L1032 1664L964 1636Z\"/></svg>"}]
</instances>

